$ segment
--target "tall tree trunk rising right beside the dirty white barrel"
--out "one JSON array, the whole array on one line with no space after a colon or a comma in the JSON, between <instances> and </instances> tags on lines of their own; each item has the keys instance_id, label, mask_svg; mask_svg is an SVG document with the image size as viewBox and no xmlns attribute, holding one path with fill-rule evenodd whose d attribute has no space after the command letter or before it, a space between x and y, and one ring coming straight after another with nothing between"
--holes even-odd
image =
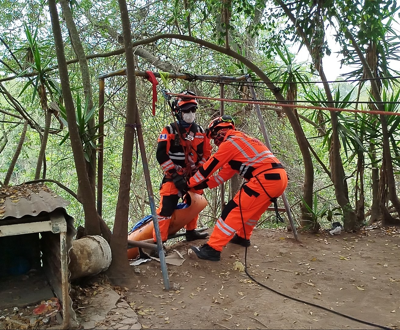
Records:
<instances>
[{"instance_id":1,"label":"tall tree trunk rising right beside the dirty white barrel","mask_svg":"<svg viewBox=\"0 0 400 330\"><path fill-rule=\"evenodd\" d=\"M130 21L125 0L118 0L121 13L121 23L124 35L126 56L126 77L128 79L128 98L126 102L126 124L124 133L124 146L122 150L122 166L120 174L120 187L115 210L114 229L111 236L112 262L108 268L108 277L118 285L130 285L133 275L127 258L128 250L128 213L130 183L132 181L132 157L134 141L134 124L138 114L136 104L136 76L135 58L132 52Z\"/></svg>"}]
</instances>

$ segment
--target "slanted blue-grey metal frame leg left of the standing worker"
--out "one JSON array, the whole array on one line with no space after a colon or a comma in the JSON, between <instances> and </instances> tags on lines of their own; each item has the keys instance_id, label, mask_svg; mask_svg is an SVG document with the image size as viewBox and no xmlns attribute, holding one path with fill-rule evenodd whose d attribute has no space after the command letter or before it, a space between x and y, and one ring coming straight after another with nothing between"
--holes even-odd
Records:
<instances>
[{"instance_id":1,"label":"slanted blue-grey metal frame leg left of the standing worker","mask_svg":"<svg viewBox=\"0 0 400 330\"><path fill-rule=\"evenodd\" d=\"M162 277L164 278L164 286L166 290L170 290L170 281L168 278L167 264L165 262L164 247L162 246L160 226L158 225L158 219L156 213L156 203L154 202L153 188L150 178L150 170L146 156L146 147L144 145L142 125L140 122L141 122L140 114L138 111L138 107L136 106L136 132L138 133L138 142L140 148L140 156L142 157L144 180L146 181L150 210L153 217L154 230L156 231L157 251L158 251L158 256L160 256L161 272L162 272Z\"/></svg>"}]
</instances>

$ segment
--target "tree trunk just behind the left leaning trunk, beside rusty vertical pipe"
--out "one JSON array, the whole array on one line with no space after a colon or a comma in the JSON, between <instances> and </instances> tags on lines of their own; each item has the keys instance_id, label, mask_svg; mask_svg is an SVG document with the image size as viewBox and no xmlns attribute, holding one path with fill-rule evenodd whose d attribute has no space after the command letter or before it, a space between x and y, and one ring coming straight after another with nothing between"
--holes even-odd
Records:
<instances>
[{"instance_id":1,"label":"tree trunk just behind the left leaning trunk, beside rusty vertical pipe","mask_svg":"<svg viewBox=\"0 0 400 330\"><path fill-rule=\"evenodd\" d=\"M72 46L74 48L76 57L79 60L80 72L82 74L82 85L83 92L85 95L85 100L88 100L88 112L93 108L93 95L92 95L92 84L90 83L90 73L88 67L88 61L86 60L85 50L82 46L82 42L79 37L78 30L76 29L76 24L72 16L72 11L69 2L66 0L60 0L62 14L64 16L65 22L68 27L70 38L72 41ZM91 139L95 135L94 127L94 117L88 121L88 135ZM96 151L90 148L88 151L89 162L86 161L86 171L88 173L88 178L90 185L92 186L94 198L96 198ZM78 195L81 192L78 191Z\"/></svg>"}]
</instances>

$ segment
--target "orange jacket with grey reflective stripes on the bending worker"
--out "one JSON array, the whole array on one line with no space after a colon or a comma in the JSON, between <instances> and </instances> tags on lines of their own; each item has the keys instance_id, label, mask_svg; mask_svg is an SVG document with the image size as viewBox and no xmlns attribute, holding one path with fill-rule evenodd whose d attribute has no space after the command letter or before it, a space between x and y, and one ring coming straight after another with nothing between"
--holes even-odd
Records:
<instances>
[{"instance_id":1,"label":"orange jacket with grey reflective stripes on the bending worker","mask_svg":"<svg viewBox=\"0 0 400 330\"><path fill-rule=\"evenodd\" d=\"M280 164L280 161L264 143L232 129L226 132L218 151L190 178L188 185L195 187L205 182L209 188L215 188L229 180L235 173L248 181L253 177L255 169L271 165L270 163ZM211 176L221 167L218 174Z\"/></svg>"}]
</instances>

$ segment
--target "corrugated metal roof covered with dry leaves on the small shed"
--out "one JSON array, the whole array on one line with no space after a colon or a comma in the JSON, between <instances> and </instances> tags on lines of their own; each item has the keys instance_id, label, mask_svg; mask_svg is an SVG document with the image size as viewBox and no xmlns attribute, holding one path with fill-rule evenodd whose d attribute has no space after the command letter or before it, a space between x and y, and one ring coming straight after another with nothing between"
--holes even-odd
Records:
<instances>
[{"instance_id":1,"label":"corrugated metal roof covered with dry leaves on the small shed","mask_svg":"<svg viewBox=\"0 0 400 330\"><path fill-rule=\"evenodd\" d=\"M50 213L69 204L42 183L0 188L0 220Z\"/></svg>"}]
</instances>

